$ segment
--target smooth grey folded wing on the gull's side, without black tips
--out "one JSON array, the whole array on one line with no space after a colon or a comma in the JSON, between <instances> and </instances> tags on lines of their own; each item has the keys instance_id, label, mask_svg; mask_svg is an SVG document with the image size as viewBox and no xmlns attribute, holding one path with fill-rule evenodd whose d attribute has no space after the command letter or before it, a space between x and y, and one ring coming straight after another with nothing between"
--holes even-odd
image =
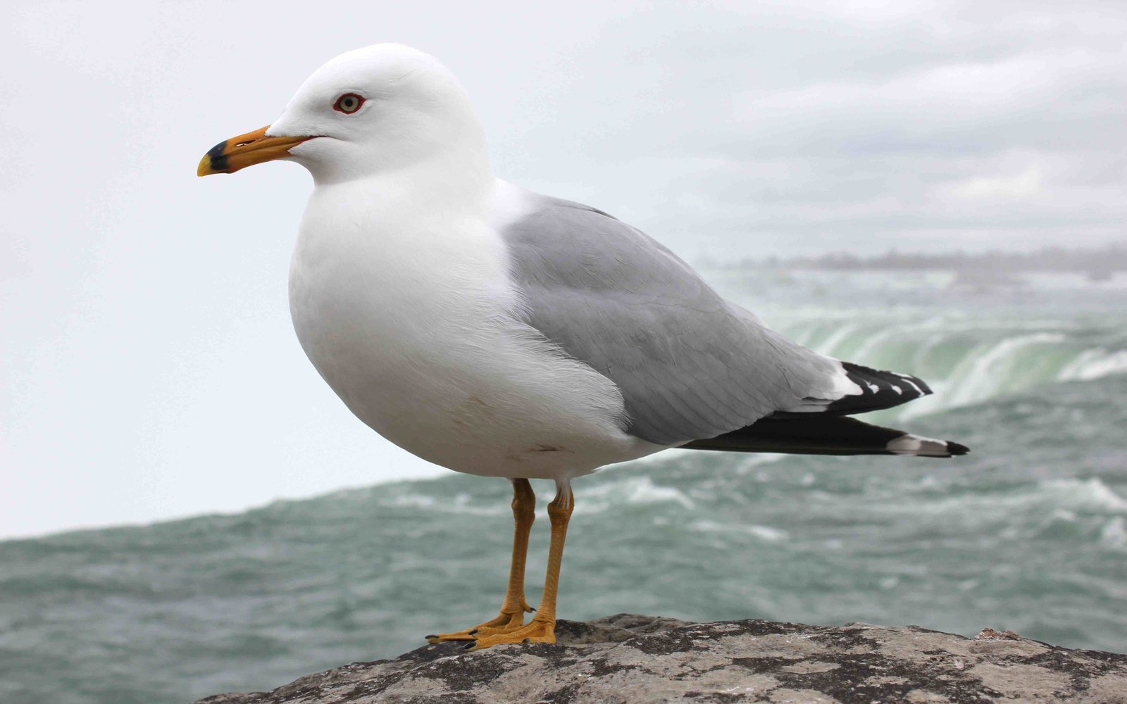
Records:
<instances>
[{"instance_id":1,"label":"smooth grey folded wing on the gull's side, without black tips","mask_svg":"<svg viewBox=\"0 0 1127 704\"><path fill-rule=\"evenodd\" d=\"M526 321L614 382L631 435L676 445L842 398L840 363L767 330L658 242L531 197L534 210L502 230Z\"/></svg>"}]
</instances>

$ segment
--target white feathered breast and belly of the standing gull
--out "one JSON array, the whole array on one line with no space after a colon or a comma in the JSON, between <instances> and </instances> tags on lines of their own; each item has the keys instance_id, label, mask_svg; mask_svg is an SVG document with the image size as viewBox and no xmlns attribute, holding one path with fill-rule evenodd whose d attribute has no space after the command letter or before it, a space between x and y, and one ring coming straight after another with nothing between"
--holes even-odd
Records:
<instances>
[{"instance_id":1,"label":"white feathered breast and belly of the standing gull","mask_svg":"<svg viewBox=\"0 0 1127 704\"><path fill-rule=\"evenodd\" d=\"M318 187L290 271L298 338L361 420L425 460L499 476L574 476L659 448L621 430L607 378L518 321L495 222L516 216L516 190L446 210L393 195Z\"/></svg>"}]
</instances>

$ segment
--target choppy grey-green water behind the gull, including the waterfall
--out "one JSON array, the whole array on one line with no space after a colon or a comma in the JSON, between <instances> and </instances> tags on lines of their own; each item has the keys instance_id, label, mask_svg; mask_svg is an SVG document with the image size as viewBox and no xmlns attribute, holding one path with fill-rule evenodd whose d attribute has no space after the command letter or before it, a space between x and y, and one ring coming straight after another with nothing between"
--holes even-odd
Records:
<instances>
[{"instance_id":1,"label":"choppy grey-green water behind the gull, including the waterfall","mask_svg":"<svg viewBox=\"0 0 1127 704\"><path fill-rule=\"evenodd\" d=\"M973 454L676 452L586 478L562 617L992 626L1127 651L1127 282L710 278L811 347L923 376L934 396L872 419ZM552 489L533 484L534 603ZM186 702L393 657L495 615L508 501L503 480L451 474L0 543L0 702Z\"/></svg>"}]
</instances>

